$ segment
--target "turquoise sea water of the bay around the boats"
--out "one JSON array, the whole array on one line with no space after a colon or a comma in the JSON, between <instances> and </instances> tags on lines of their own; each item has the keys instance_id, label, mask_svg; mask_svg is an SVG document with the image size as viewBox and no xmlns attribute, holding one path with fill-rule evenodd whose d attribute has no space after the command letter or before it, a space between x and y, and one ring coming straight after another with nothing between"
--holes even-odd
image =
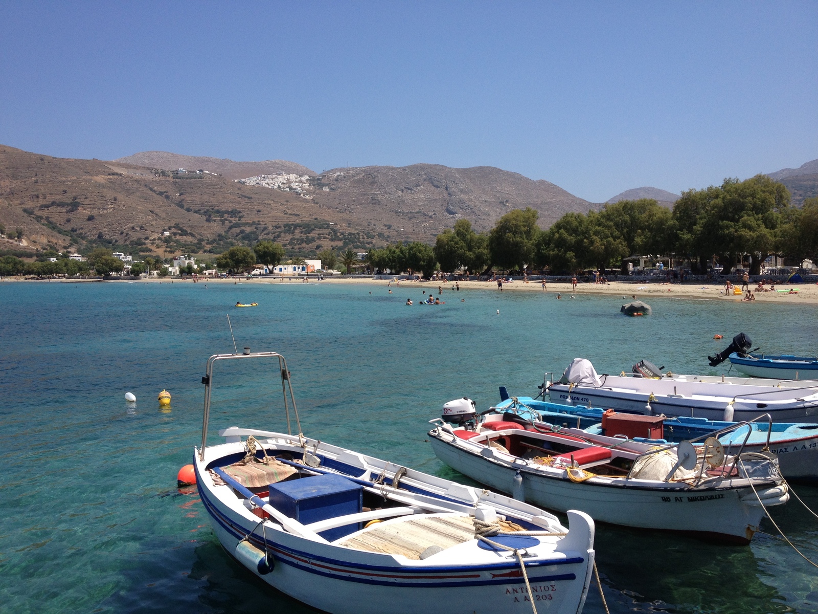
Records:
<instances>
[{"instance_id":1,"label":"turquoise sea water of the bay around the boats","mask_svg":"<svg viewBox=\"0 0 818 614\"><path fill-rule=\"evenodd\" d=\"M644 358L715 373L706 356L739 331L769 352L818 350L815 306L657 298L652 317L624 318L616 297L407 296L423 298L329 283L0 283L0 611L312 612L233 562L196 491L175 487L200 441L205 361L232 350L228 313L240 348L288 359L309 436L447 477L424 441L447 400L485 409L498 385L535 395L543 372L578 356L599 372ZM232 425L285 429L280 381L260 363L218 364L213 442ZM818 489L795 488L818 509ZM818 519L795 501L771 513L818 559ZM767 521L749 547L598 525L596 549L611 612L818 612L816 569ZM604 612L596 590L585 612Z\"/></svg>"}]
</instances>

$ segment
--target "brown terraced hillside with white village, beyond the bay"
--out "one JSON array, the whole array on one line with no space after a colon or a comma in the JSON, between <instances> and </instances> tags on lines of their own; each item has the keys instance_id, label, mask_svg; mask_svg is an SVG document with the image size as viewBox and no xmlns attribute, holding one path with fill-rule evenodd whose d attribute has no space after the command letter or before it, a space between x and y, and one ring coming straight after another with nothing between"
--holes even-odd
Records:
<instances>
[{"instance_id":1,"label":"brown terraced hillside with white village, beyond the bay","mask_svg":"<svg viewBox=\"0 0 818 614\"><path fill-rule=\"evenodd\" d=\"M291 255L311 255L330 246L363 251L431 242L461 217L487 230L515 207L539 210L547 227L566 211L595 206L553 183L490 167L366 167L296 179L272 189L223 174L175 174L122 159L55 158L0 145L0 223L9 233L20 228L25 245L61 251L102 245L126 253L219 253L268 238ZM5 243L0 249L23 249Z\"/></svg>"}]
</instances>

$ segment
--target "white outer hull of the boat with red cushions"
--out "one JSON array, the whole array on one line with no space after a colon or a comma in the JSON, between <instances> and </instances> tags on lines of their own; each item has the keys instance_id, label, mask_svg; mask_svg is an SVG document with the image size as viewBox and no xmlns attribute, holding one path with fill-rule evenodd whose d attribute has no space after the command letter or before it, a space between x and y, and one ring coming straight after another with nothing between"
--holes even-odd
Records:
<instances>
[{"instance_id":1,"label":"white outer hull of the boat with red cushions","mask_svg":"<svg viewBox=\"0 0 818 614\"><path fill-rule=\"evenodd\" d=\"M749 544L764 517L761 507L747 505L741 497L750 489L655 490L575 483L556 479L492 460L438 437L430 439L434 454L465 476L502 492L513 490L515 475L523 479L525 500L565 512L580 509L596 521L614 525L681 531L712 536L727 543Z\"/></svg>"}]
</instances>

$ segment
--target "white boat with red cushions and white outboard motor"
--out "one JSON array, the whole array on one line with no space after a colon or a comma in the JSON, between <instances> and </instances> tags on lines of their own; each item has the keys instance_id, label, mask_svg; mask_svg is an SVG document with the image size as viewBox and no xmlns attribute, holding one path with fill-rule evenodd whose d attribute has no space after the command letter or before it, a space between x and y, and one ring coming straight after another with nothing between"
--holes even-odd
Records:
<instances>
[{"instance_id":1,"label":"white boat with red cushions and white outboard motor","mask_svg":"<svg viewBox=\"0 0 818 614\"><path fill-rule=\"evenodd\" d=\"M690 441L649 445L509 421L497 412L476 422L474 404L469 410L467 403L452 401L431 421L434 454L482 484L544 508L577 508L597 521L748 544L765 507L789 499L774 454L741 447L725 453L717 439L699 449Z\"/></svg>"}]
</instances>

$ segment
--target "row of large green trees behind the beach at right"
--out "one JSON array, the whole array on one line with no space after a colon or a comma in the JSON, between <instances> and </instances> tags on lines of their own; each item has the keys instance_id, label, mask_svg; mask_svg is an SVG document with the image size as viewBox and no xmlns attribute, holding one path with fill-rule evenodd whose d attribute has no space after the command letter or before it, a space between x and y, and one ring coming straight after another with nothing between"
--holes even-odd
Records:
<instances>
[{"instance_id":1,"label":"row of large green trees behind the beach at right","mask_svg":"<svg viewBox=\"0 0 818 614\"><path fill-rule=\"evenodd\" d=\"M618 266L627 272L628 256L658 254L687 261L696 272L707 271L713 259L726 269L748 260L758 274L769 255L793 263L818 256L818 197L794 207L782 183L757 175L684 192L672 210L652 199L619 201L565 214L545 231L537 228L537 211L513 210L488 233L458 220L438 235L434 254L444 272L490 266L553 273Z\"/></svg>"}]
</instances>

